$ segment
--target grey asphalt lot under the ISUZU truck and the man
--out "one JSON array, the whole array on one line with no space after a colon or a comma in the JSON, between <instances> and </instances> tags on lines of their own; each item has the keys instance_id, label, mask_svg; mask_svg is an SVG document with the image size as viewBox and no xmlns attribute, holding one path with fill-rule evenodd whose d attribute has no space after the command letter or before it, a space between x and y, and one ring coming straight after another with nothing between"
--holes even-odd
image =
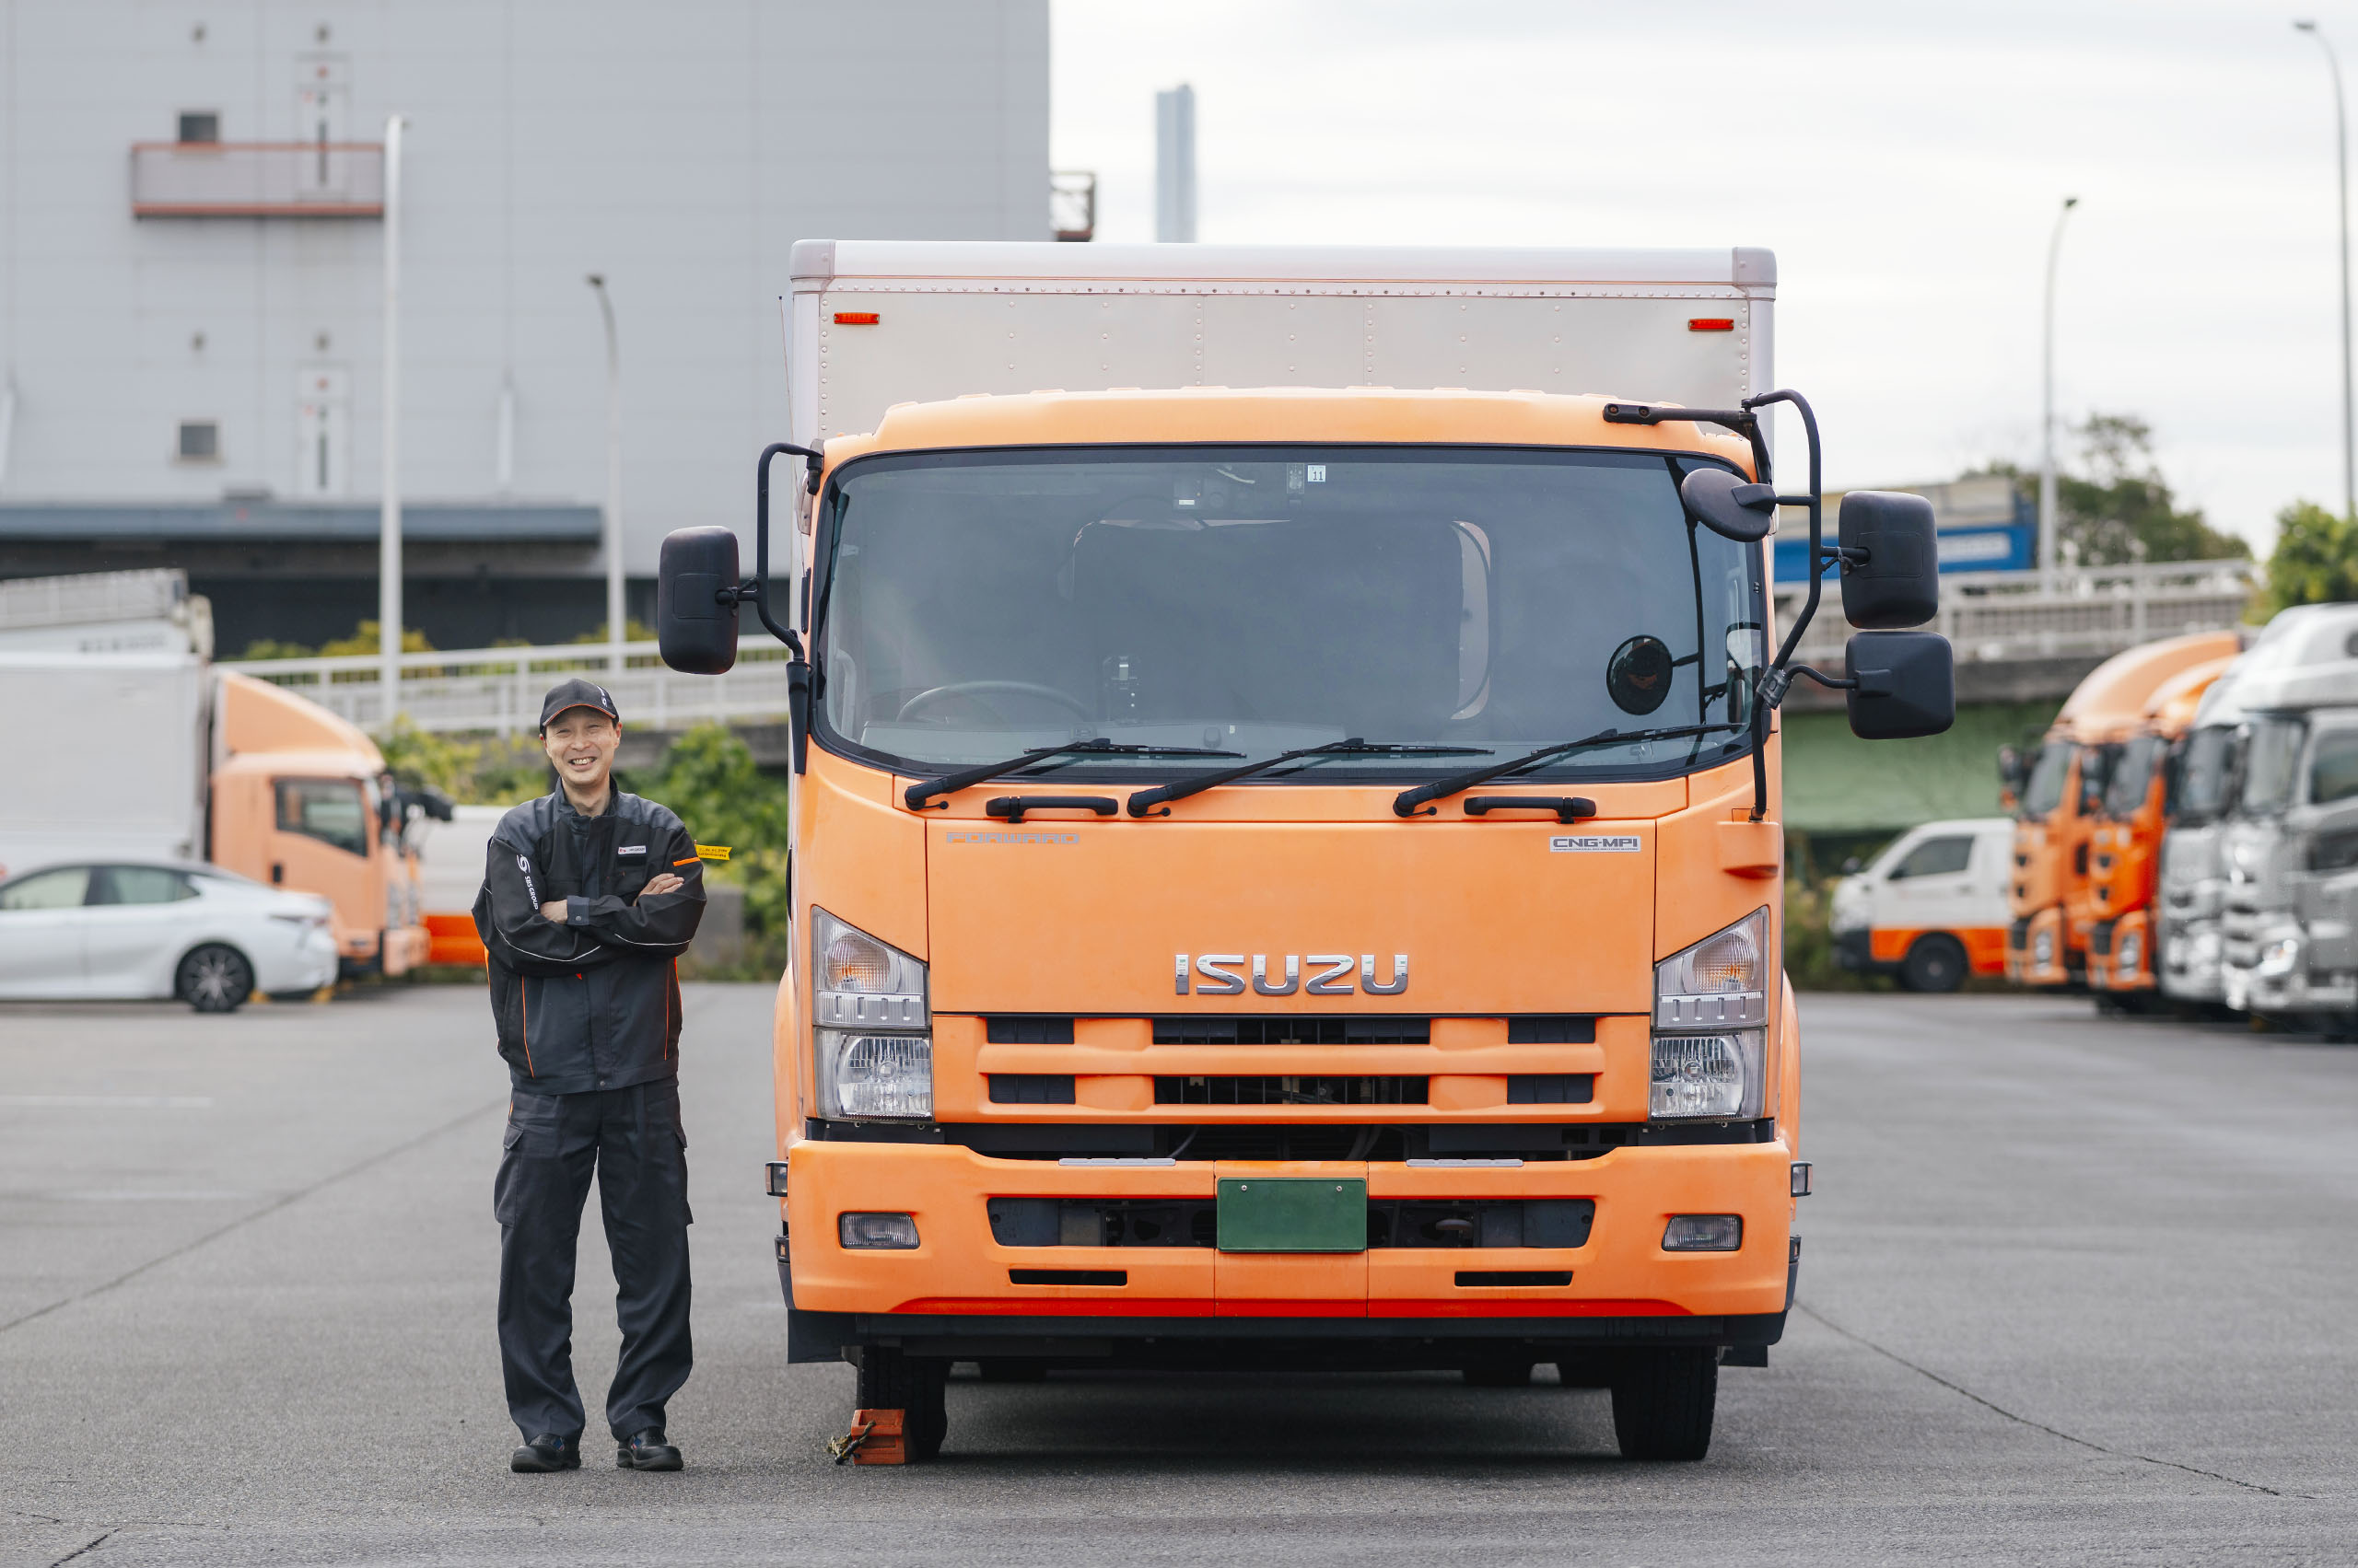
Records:
<instances>
[{"instance_id":1,"label":"grey asphalt lot under the ISUZU truck and the man","mask_svg":"<svg viewBox=\"0 0 2358 1568\"><path fill-rule=\"evenodd\" d=\"M479 990L0 1007L0 1563L2358 1561L2358 1047L1802 1019L1802 1309L1702 1464L1622 1462L1554 1382L1075 1375L955 1382L938 1464L837 1469L851 1370L783 1353L769 990L691 988L689 1469L514 1476Z\"/></svg>"}]
</instances>

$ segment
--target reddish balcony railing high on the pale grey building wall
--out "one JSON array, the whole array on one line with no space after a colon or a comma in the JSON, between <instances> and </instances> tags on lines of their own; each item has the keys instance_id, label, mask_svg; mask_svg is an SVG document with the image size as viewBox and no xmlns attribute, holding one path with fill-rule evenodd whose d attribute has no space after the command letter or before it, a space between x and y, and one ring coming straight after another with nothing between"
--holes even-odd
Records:
<instances>
[{"instance_id":1,"label":"reddish balcony railing high on the pale grey building wall","mask_svg":"<svg viewBox=\"0 0 2358 1568\"><path fill-rule=\"evenodd\" d=\"M134 217L384 217L377 141L137 141Z\"/></svg>"}]
</instances>

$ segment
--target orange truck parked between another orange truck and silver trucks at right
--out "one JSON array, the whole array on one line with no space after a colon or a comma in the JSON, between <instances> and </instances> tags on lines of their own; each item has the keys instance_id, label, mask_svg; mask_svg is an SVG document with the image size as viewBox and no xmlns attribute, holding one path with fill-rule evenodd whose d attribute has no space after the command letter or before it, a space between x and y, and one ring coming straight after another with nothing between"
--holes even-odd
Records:
<instances>
[{"instance_id":1,"label":"orange truck parked between another orange truck and silver trucks at right","mask_svg":"<svg viewBox=\"0 0 2358 1568\"><path fill-rule=\"evenodd\" d=\"M2146 1007L2160 997L2162 837L2169 832L2176 759L2202 693L2233 655L2209 658L2162 681L2146 698L2143 726L2120 745L2089 835L2094 927L2087 936L2087 986L2099 1002Z\"/></svg>"}]
</instances>

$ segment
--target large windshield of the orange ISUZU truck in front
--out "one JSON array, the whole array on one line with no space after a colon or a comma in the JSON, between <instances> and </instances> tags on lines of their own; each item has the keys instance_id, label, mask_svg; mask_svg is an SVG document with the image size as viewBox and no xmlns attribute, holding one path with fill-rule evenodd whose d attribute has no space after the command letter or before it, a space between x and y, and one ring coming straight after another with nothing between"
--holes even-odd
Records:
<instances>
[{"instance_id":1,"label":"large windshield of the orange ISUZU truck in front","mask_svg":"<svg viewBox=\"0 0 2358 1568\"><path fill-rule=\"evenodd\" d=\"M1759 549L1686 521L1693 462L1283 446L858 460L818 540L816 731L877 766L943 771L1089 736L1247 762L1344 738L1504 757L1743 722L1766 658ZM1519 778L1660 778L1745 745L1611 745ZM1467 762L1353 755L1302 776Z\"/></svg>"}]
</instances>

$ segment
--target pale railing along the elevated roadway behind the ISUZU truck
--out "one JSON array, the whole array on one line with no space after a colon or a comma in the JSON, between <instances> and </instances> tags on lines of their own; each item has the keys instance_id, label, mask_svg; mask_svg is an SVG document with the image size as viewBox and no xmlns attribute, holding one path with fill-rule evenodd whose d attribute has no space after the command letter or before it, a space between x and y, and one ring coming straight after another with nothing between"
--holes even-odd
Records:
<instances>
[{"instance_id":1,"label":"pale railing along the elevated roadway behind the ISUZU truck","mask_svg":"<svg viewBox=\"0 0 2358 1568\"><path fill-rule=\"evenodd\" d=\"M2257 568L2247 561L2108 566L2073 573L2059 592L2042 594L2011 573L1950 573L1941 578L1934 630L1957 646L1959 663L2117 653L2155 637L2240 625L2254 580ZM1799 597L1799 589L1778 589L1780 622L1790 620ZM1839 670L1846 637L1842 594L1827 582L1799 658ZM623 653L620 674L608 672L604 644L403 653L396 712L432 731L531 733L540 722L540 696L566 674L585 674L613 691L632 726L785 719L785 648L766 634L738 644L738 667L729 674L665 670L651 641L627 644ZM375 653L224 667L299 691L361 729L382 731L391 719Z\"/></svg>"}]
</instances>

